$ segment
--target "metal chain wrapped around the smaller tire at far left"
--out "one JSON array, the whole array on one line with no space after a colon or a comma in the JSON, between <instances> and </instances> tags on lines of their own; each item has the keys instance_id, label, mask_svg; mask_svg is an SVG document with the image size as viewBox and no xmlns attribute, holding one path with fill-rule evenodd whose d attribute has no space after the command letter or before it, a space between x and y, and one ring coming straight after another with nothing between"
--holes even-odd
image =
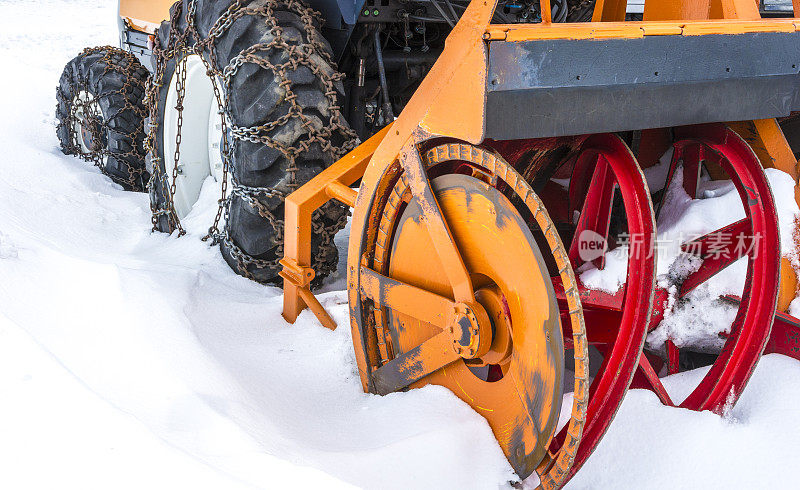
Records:
<instances>
[{"instance_id":1,"label":"metal chain wrapped around the smaller tire at far left","mask_svg":"<svg viewBox=\"0 0 800 490\"><path fill-rule=\"evenodd\" d=\"M136 141L146 141L144 126L137 125L136 129L134 129L132 132L123 132L119 128L110 127L108 125L108 121L103 117L99 106L97 106L97 100L101 97L107 97L113 94L122 95L122 98L125 100L125 107L119 110L117 113L119 114L129 110L133 112L133 114L135 114L139 119L144 120L147 115L146 106L131 103L130 95L135 93L136 82L138 82L138 84L142 87L148 86L147 84L149 84L149 75L147 73L147 69L139 63L139 60L136 59L136 56L134 56L132 53L115 48L113 46L86 48L83 50L83 52L81 52L80 57L86 57L96 53L103 53L103 56L95 63L102 62L105 64L103 73L100 75L100 77L102 78L109 72L121 72L123 75L124 85L119 90L106 91L101 94L92 94L89 91L88 78L79 76L77 79L73 80L74 86L72 100L68 100L69 96L63 93L61 86L58 87L58 90L56 91L56 98L58 99L58 102L63 102L66 107L69 107L69 115L66 119L60 120L56 128L56 131L60 132L61 128L66 127L68 134L70 135L70 142L66 145L62 142L61 149L67 155L76 155L82 160L92 162L103 174L109 176L115 182L128 185L130 189L134 191L143 191L144 187L142 185L142 176L145 172L145 168L143 165L134 167L131 165L129 160L133 159L137 162L144 162L145 160L146 151L144 148L140 147L140 145L136 144ZM125 61L127 61L127 63L120 64L117 60L114 60L114 57L122 57L125 59ZM90 94L91 98L89 100L78 99L77 95L81 92ZM110 175L106 170L104 161L107 160L109 156L112 156L107 144L100 148L92 148L90 149L89 153L84 153L83 148L80 145L80 140L78 139L82 136L77 134L75 131L75 123L79 122L77 120L78 109L80 109L80 112L84 115L91 114L90 122L95 125L95 128L92 131L93 133L103 130L106 131L106 134L108 134L108 132L115 132L123 134L131 139L132 144L129 151L124 153L113 153L113 156L118 161L121 161L125 164L125 167L128 171L127 180L120 180L119 177Z\"/></svg>"}]
</instances>

